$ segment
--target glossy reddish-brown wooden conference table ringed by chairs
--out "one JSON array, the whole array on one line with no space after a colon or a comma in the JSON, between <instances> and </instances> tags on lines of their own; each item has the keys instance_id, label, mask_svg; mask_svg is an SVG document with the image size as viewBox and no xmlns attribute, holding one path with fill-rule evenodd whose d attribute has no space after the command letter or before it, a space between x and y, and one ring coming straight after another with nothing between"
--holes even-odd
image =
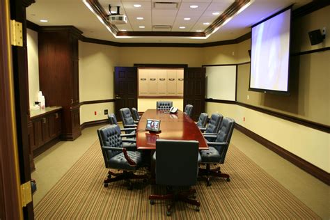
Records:
<instances>
[{"instance_id":1,"label":"glossy reddish-brown wooden conference table ringed by chairs","mask_svg":"<svg viewBox=\"0 0 330 220\"><path fill-rule=\"evenodd\" d=\"M161 120L159 133L146 131L147 119ZM164 110L148 109L140 118L136 129L136 148L138 150L155 150L157 139L198 141L199 150L207 150L207 144L194 120L182 111L168 113Z\"/></svg>"}]
</instances>

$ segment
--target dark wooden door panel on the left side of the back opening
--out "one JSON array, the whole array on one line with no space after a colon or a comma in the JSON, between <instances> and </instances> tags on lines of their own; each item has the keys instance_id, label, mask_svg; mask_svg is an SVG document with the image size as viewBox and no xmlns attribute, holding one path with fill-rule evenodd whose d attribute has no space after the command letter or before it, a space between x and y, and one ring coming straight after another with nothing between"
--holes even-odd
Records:
<instances>
[{"instance_id":1,"label":"dark wooden door panel on the left side of the back opening","mask_svg":"<svg viewBox=\"0 0 330 220\"><path fill-rule=\"evenodd\" d=\"M137 68L115 67L115 105L117 120L121 120L119 109L137 108Z\"/></svg>"}]
</instances>

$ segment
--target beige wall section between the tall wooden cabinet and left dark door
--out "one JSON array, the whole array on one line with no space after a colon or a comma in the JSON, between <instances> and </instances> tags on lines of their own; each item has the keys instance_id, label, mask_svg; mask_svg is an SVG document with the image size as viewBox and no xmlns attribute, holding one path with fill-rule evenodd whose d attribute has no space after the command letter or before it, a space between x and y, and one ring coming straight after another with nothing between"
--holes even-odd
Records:
<instances>
[{"instance_id":1,"label":"beige wall section between the tall wooden cabinet and left dark door","mask_svg":"<svg viewBox=\"0 0 330 220\"><path fill-rule=\"evenodd\" d=\"M113 71L118 65L118 52L118 47L79 41L80 102L113 99ZM80 108L80 123L106 119L104 109L111 113L113 107L113 102L84 104Z\"/></svg>"}]
</instances>

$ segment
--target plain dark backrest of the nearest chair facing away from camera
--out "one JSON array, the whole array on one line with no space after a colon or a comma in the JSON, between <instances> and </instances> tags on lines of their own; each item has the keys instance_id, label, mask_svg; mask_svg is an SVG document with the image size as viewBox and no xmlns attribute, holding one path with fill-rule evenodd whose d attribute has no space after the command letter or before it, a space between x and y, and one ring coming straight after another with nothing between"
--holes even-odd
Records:
<instances>
[{"instance_id":1,"label":"plain dark backrest of the nearest chair facing away from camera","mask_svg":"<svg viewBox=\"0 0 330 220\"><path fill-rule=\"evenodd\" d=\"M156 141L157 184L191 186L197 182L197 173L198 141Z\"/></svg>"}]
</instances>

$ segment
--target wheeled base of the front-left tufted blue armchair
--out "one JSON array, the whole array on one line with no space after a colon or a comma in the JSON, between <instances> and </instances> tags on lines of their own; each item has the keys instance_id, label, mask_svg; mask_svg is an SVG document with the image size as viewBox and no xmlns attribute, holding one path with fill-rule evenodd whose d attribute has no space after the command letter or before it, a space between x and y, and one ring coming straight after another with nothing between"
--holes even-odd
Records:
<instances>
[{"instance_id":1,"label":"wheeled base of the front-left tufted blue armchair","mask_svg":"<svg viewBox=\"0 0 330 220\"><path fill-rule=\"evenodd\" d=\"M114 178L111 178L111 175ZM136 175L133 172L129 171L123 171L123 173L113 173L111 171L108 171L107 179L104 180L103 186L108 187L110 182L116 182L120 180L126 180L128 184L128 189L133 189L133 184L131 182L132 179L143 179L143 182L145 182L148 178L148 175Z\"/></svg>"}]
</instances>

